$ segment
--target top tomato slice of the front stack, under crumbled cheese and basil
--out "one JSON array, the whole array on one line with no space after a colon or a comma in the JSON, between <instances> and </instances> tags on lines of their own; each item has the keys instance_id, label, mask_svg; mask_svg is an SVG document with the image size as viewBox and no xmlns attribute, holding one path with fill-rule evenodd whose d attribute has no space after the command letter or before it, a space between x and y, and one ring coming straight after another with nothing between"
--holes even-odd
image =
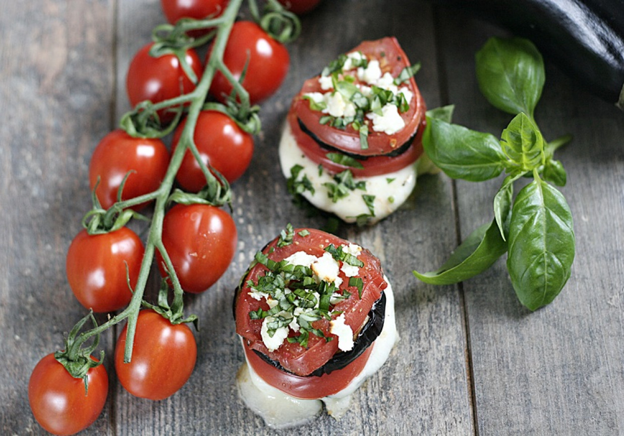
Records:
<instances>
[{"instance_id":1,"label":"top tomato slice of the front stack, under crumbled cheese and basil","mask_svg":"<svg viewBox=\"0 0 624 436\"><path fill-rule=\"evenodd\" d=\"M320 257L325 251L324 248L333 244L338 247L341 245L348 246L349 241L338 238L338 236L330 235L321 230L305 229L309 233L301 236L300 231L294 231L292 243L285 246L278 246L278 239L271 241L262 252L273 261L281 261L291 254L298 251L304 251L306 254ZM356 334L366 323L368 313L373 304L381 298L383 289L388 286L384 280L383 271L379 259L367 249L362 249L358 254L358 259L364 263L364 266L358 269L358 278L363 281L361 298L358 288L349 286L349 278L343 271L340 271L339 277L343 279L340 289L347 290L351 295L339 301L333 306L333 311L341 311L344 314L344 323L351 327ZM251 319L250 312L263 309L268 311L269 307L265 299L256 300L250 295L251 289L249 282L258 283L258 278L266 274L268 269L263 264L255 264L246 274L241 283L240 289L235 297L235 317L236 332L243 337L243 341L250 349L257 350L269 359L277 361L286 369L296 375L308 375L314 370L323 366L338 351L338 337L329 332L330 324L327 319L321 318L312 322L314 329L323 331L326 337L333 338L326 341L324 337L310 334L308 346L302 347L298 342L284 341L275 351L269 351L261 337L262 319Z\"/></svg>"}]
</instances>

